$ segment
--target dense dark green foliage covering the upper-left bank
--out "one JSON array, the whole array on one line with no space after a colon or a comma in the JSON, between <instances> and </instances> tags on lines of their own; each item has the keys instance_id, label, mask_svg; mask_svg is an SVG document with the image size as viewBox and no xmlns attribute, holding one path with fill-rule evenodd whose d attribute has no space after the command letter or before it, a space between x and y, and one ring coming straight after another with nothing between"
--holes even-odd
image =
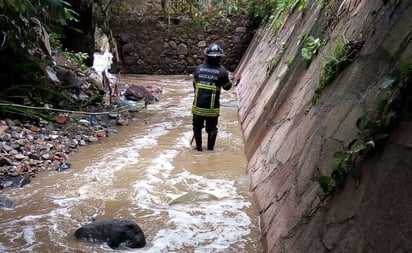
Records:
<instances>
[{"instance_id":1,"label":"dense dark green foliage covering the upper-left bank","mask_svg":"<svg viewBox=\"0 0 412 253\"><path fill-rule=\"evenodd\" d=\"M64 28L78 18L63 0L0 0L1 117L47 118L47 111L11 105L62 105L70 100L65 87L46 77L46 69L55 64L56 53L63 53Z\"/></svg>"}]
</instances>

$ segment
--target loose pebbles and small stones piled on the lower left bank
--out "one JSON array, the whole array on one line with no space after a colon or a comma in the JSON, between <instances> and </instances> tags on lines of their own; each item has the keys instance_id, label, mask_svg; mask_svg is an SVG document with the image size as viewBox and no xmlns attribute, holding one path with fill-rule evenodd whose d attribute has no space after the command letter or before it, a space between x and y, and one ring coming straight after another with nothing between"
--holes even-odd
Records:
<instances>
[{"instance_id":1,"label":"loose pebbles and small stones piled on the lower left bank","mask_svg":"<svg viewBox=\"0 0 412 253\"><path fill-rule=\"evenodd\" d=\"M107 115L67 118L64 124L0 120L0 189L22 187L41 171L68 169L70 154L115 134L115 126Z\"/></svg>"}]
</instances>

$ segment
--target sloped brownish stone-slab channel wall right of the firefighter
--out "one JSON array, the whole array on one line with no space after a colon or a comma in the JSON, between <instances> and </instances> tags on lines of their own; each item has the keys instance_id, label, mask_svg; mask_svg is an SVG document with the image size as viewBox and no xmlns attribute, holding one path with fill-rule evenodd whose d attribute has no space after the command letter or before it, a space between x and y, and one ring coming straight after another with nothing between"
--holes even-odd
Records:
<instances>
[{"instance_id":1,"label":"sloped brownish stone-slab channel wall right of the firefighter","mask_svg":"<svg viewBox=\"0 0 412 253\"><path fill-rule=\"evenodd\" d=\"M357 161L359 182L348 176L330 195L318 183L331 175L333 154L361 138L356 122L376 112L391 73L411 63L411 1L320 2L307 1L278 30L262 27L235 71L265 251L411 252L411 120ZM301 55L308 36L325 41L310 64ZM313 103L341 39L353 54Z\"/></svg>"}]
</instances>

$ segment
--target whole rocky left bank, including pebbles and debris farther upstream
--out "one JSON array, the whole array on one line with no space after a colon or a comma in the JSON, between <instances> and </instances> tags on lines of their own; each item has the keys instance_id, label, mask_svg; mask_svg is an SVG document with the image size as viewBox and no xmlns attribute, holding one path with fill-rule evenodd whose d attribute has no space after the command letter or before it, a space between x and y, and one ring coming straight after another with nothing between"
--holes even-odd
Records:
<instances>
[{"instance_id":1,"label":"whole rocky left bank, including pebbles and debris farther upstream","mask_svg":"<svg viewBox=\"0 0 412 253\"><path fill-rule=\"evenodd\" d=\"M54 109L52 105L36 110L49 111L54 120L0 120L0 190L6 187L23 187L42 171L62 171L70 168L65 161L79 147L96 143L117 132L117 127L127 125L139 109L145 107L145 94L133 101L124 97L127 84L106 79L95 71L81 70L76 64L58 58L56 65L48 68L48 75L57 85L70 85L78 104L96 94L103 94L103 101L82 107L82 110ZM116 99L109 102L108 86L119 86ZM140 86L139 86L140 87ZM146 89L145 87L140 87ZM159 90L147 90L154 98ZM152 93L153 92L153 93ZM76 93L76 94L75 94ZM112 97L114 98L114 97ZM10 106L22 105L10 104ZM62 105L64 107L64 105ZM0 198L1 200L1 198ZM0 206L2 203L0 201Z\"/></svg>"}]
</instances>

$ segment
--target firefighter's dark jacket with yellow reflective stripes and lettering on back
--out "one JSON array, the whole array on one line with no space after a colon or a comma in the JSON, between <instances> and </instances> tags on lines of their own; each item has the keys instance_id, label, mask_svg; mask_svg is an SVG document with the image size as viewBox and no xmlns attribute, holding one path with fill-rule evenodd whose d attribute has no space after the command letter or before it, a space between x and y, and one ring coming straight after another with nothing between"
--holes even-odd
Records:
<instances>
[{"instance_id":1,"label":"firefighter's dark jacket with yellow reflective stripes and lettering on back","mask_svg":"<svg viewBox=\"0 0 412 253\"><path fill-rule=\"evenodd\" d=\"M199 116L219 116L221 88L229 90L232 86L227 70L221 65L204 63L196 68L193 78L195 97L192 113Z\"/></svg>"}]
</instances>

